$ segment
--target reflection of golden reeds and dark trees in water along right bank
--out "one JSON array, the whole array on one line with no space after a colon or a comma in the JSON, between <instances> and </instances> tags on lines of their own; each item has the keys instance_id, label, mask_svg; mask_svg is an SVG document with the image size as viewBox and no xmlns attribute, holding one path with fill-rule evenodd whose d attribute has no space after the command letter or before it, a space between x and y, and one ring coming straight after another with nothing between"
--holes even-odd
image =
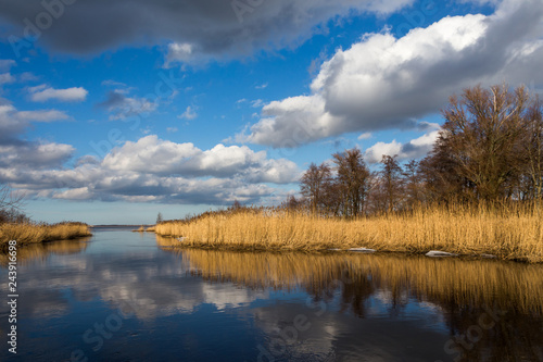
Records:
<instances>
[{"instance_id":1,"label":"reflection of golden reeds and dark trees in water along right bank","mask_svg":"<svg viewBox=\"0 0 543 362\"><path fill-rule=\"evenodd\" d=\"M543 265L348 252L228 252L172 249L193 275L252 289L295 291L327 311L371 320L437 311L443 351L460 361L543 360ZM387 305L375 310L375 300Z\"/></svg>"}]
</instances>

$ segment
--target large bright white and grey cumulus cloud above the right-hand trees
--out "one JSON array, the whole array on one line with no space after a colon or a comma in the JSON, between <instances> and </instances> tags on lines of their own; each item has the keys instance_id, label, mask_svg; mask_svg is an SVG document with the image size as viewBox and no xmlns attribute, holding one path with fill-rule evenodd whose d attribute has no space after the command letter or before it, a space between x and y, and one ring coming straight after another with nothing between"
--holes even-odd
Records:
<instances>
[{"instance_id":1,"label":"large bright white and grey cumulus cloud above the right-hand trees","mask_svg":"<svg viewBox=\"0 0 543 362\"><path fill-rule=\"evenodd\" d=\"M507 10L507 11L505 11ZM447 16L402 38L368 34L325 62L308 96L273 101L238 141L298 147L351 132L411 129L463 88L543 82L543 2Z\"/></svg>"}]
</instances>

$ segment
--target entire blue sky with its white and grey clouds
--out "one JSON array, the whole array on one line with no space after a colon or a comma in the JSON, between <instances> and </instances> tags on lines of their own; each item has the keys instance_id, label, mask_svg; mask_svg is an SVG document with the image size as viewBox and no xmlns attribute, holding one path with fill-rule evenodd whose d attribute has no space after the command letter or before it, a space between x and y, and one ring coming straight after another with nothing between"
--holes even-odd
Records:
<instances>
[{"instance_id":1,"label":"entire blue sky with its white and grey clouds","mask_svg":"<svg viewBox=\"0 0 543 362\"><path fill-rule=\"evenodd\" d=\"M37 221L277 204L348 148L425 157L463 88L543 84L539 0L0 5L0 183Z\"/></svg>"}]
</instances>

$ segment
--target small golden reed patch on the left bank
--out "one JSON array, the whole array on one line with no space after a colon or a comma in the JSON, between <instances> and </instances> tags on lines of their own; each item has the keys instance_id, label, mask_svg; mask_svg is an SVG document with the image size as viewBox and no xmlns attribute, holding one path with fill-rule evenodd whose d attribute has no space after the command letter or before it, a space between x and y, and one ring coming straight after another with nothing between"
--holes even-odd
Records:
<instances>
[{"instance_id":1,"label":"small golden reed patch on the left bank","mask_svg":"<svg viewBox=\"0 0 543 362\"><path fill-rule=\"evenodd\" d=\"M8 241L16 240L18 245L45 242L53 240L68 240L90 236L90 229L83 223L45 224L2 224L0 225L0 251L4 250Z\"/></svg>"}]
</instances>

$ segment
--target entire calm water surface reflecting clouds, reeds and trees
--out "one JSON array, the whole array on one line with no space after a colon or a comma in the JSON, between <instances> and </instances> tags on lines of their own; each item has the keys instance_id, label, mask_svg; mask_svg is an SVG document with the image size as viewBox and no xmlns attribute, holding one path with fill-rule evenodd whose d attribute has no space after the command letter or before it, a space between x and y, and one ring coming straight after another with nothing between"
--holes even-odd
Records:
<instances>
[{"instance_id":1,"label":"entire calm water surface reflecting clouds, reeds and trees","mask_svg":"<svg viewBox=\"0 0 543 362\"><path fill-rule=\"evenodd\" d=\"M1 361L543 361L543 266L178 250L127 229L18 251Z\"/></svg>"}]
</instances>

